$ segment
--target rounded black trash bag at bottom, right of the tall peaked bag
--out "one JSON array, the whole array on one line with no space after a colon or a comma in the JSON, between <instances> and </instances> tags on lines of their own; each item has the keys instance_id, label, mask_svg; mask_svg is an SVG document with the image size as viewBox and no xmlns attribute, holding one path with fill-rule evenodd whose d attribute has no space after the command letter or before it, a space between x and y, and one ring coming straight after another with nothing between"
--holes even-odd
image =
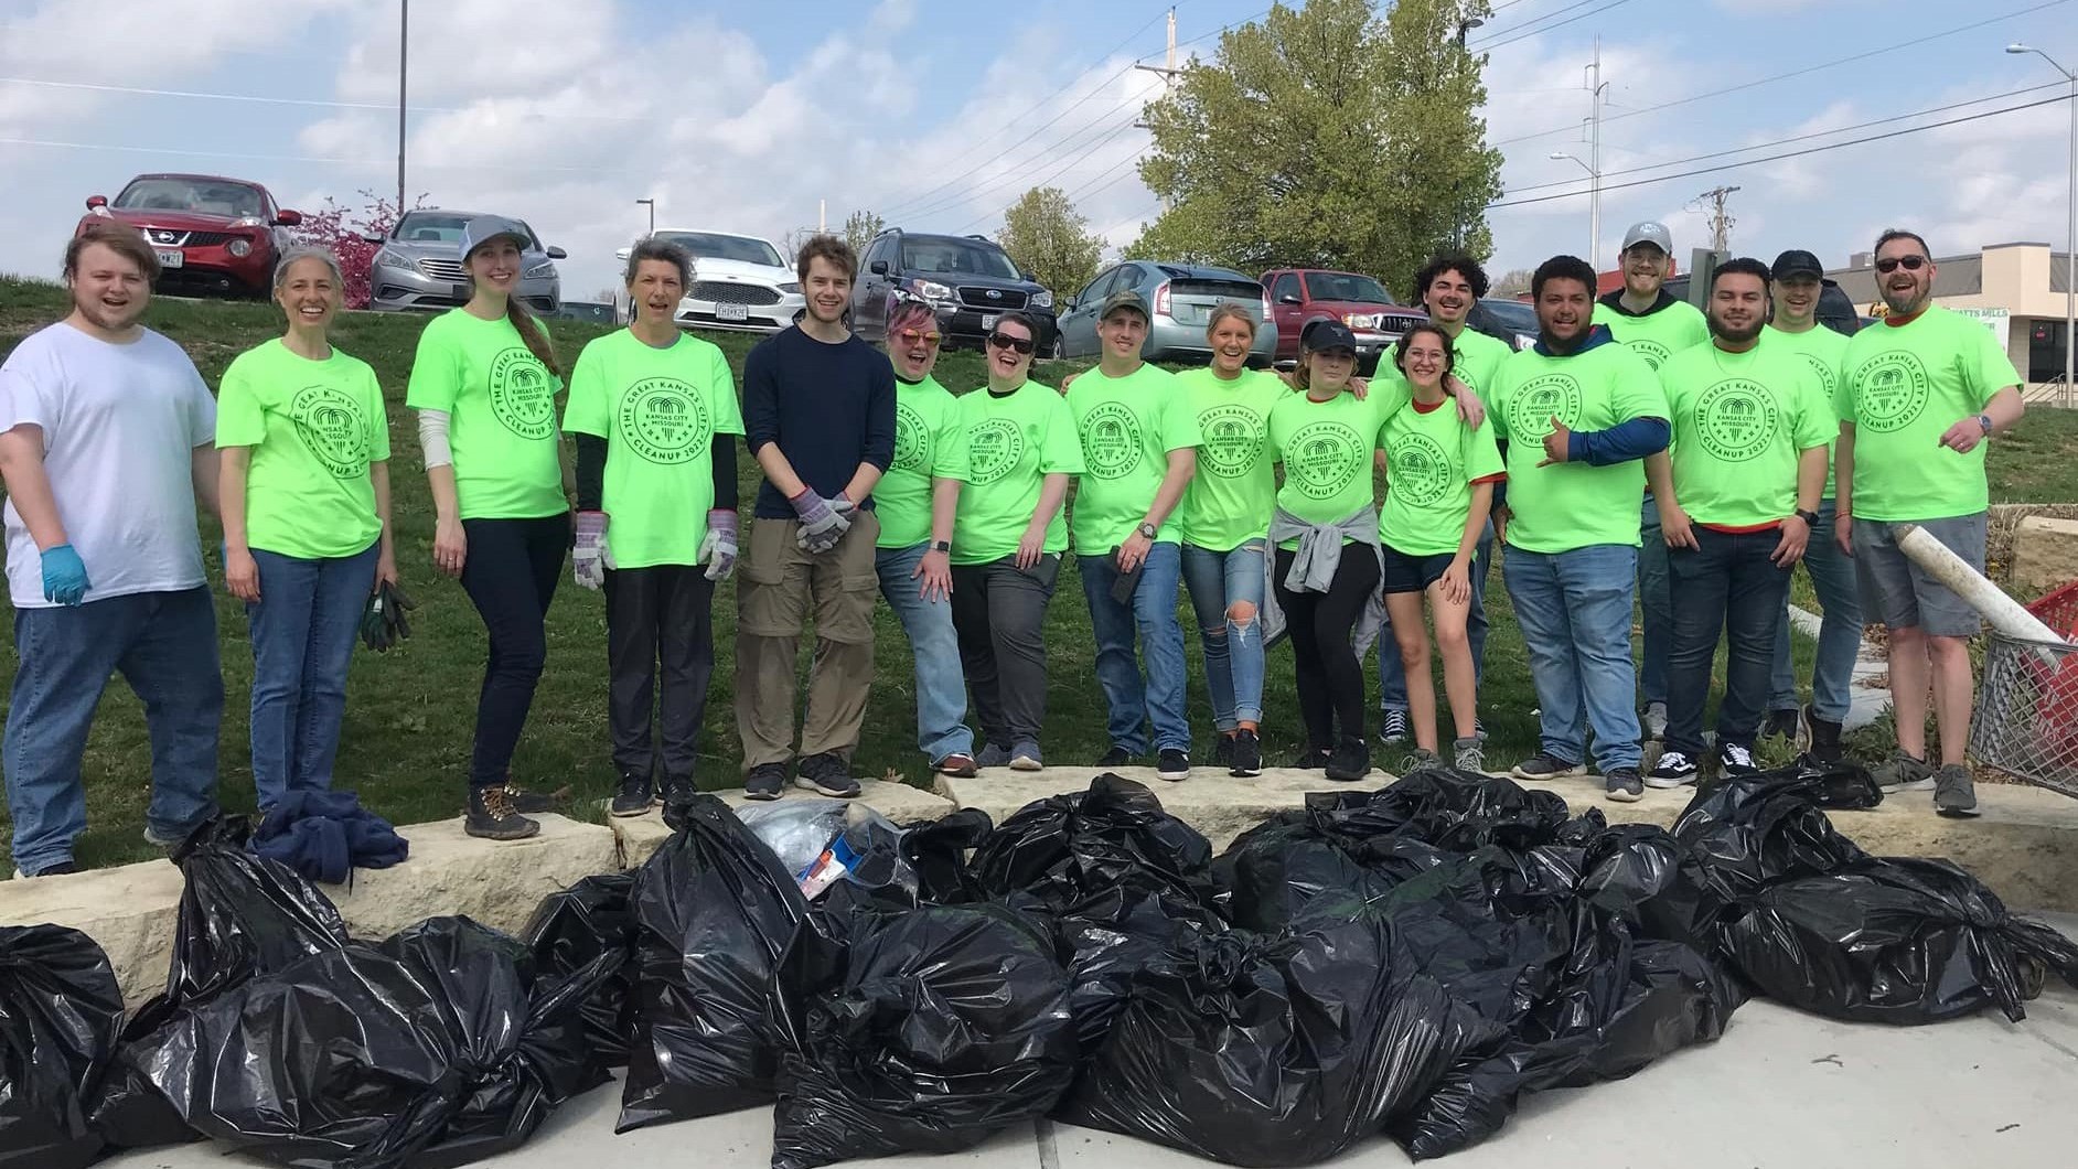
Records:
<instances>
[{"instance_id":1,"label":"rounded black trash bag at bottom, right of the tall peaked bag","mask_svg":"<svg viewBox=\"0 0 2078 1169\"><path fill-rule=\"evenodd\" d=\"M854 941L840 984L788 988L773 1169L958 1152L1043 1117L1076 1071L1068 974L1002 905L923 907Z\"/></svg>"}]
</instances>

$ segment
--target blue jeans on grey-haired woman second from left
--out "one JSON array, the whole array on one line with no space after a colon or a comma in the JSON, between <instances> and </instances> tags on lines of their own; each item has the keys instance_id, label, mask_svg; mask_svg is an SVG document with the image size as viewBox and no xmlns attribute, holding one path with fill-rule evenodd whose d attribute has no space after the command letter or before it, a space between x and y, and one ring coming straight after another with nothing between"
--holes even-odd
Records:
<instances>
[{"instance_id":1,"label":"blue jeans on grey-haired woman second from left","mask_svg":"<svg viewBox=\"0 0 2078 1169\"><path fill-rule=\"evenodd\" d=\"M245 606L254 642L254 787L266 812L291 791L332 787L347 664L376 581L376 548L305 561L254 548L260 600Z\"/></svg>"}]
</instances>

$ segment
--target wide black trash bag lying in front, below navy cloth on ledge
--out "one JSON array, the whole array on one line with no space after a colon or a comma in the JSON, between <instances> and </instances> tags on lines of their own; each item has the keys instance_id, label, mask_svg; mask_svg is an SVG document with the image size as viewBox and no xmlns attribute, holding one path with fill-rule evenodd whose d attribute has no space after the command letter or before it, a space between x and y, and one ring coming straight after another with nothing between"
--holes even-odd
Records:
<instances>
[{"instance_id":1,"label":"wide black trash bag lying in front, below navy cloth on ledge","mask_svg":"<svg viewBox=\"0 0 2078 1169\"><path fill-rule=\"evenodd\" d=\"M449 1169L596 1084L582 1003L611 957L536 982L517 939L432 918L218 997L139 1049L206 1136L297 1169Z\"/></svg>"}]
</instances>

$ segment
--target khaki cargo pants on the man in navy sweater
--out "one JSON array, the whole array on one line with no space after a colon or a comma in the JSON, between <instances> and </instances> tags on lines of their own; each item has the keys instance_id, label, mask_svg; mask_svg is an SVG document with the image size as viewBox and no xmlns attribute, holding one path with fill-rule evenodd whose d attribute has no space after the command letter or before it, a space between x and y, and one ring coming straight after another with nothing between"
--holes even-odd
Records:
<instances>
[{"instance_id":1,"label":"khaki cargo pants on the man in navy sweater","mask_svg":"<svg viewBox=\"0 0 2078 1169\"><path fill-rule=\"evenodd\" d=\"M837 546L812 556L794 544L792 519L752 519L750 554L736 569L736 733L744 770L794 758L794 660L815 608L815 664L800 756L846 762L867 723L873 687L873 544L881 521L854 511Z\"/></svg>"}]
</instances>

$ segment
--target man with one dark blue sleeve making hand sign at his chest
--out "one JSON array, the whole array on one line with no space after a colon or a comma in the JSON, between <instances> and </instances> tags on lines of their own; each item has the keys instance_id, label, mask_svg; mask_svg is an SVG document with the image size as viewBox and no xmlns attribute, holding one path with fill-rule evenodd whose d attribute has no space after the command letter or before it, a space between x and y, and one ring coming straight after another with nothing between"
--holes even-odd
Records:
<instances>
[{"instance_id":1,"label":"man with one dark blue sleeve making hand sign at his chest","mask_svg":"<svg viewBox=\"0 0 2078 1169\"><path fill-rule=\"evenodd\" d=\"M1540 750L1519 779L1586 772L1588 729L1610 799L1644 795L1631 604L1642 459L1667 448L1667 397L1642 357L1592 324L1594 268L1554 255L1529 282L1538 343L1494 378L1509 438L1504 583L1538 687Z\"/></svg>"}]
</instances>

